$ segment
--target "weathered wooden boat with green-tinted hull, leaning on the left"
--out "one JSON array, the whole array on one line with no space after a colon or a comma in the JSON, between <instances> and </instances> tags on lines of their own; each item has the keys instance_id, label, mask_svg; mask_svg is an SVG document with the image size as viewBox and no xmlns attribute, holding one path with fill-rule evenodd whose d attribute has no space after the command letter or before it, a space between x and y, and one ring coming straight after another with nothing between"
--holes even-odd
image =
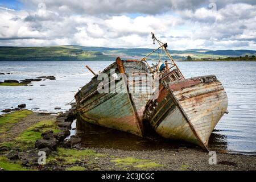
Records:
<instances>
[{"instance_id":1,"label":"weathered wooden boat with green-tinted hull, leaning on the left","mask_svg":"<svg viewBox=\"0 0 256 182\"><path fill-rule=\"evenodd\" d=\"M154 90L141 90L143 84L149 85L147 65L139 60L117 57L98 75L86 67L95 76L75 94L80 118L142 137L144 107L151 93L154 94Z\"/></svg>"}]
</instances>

